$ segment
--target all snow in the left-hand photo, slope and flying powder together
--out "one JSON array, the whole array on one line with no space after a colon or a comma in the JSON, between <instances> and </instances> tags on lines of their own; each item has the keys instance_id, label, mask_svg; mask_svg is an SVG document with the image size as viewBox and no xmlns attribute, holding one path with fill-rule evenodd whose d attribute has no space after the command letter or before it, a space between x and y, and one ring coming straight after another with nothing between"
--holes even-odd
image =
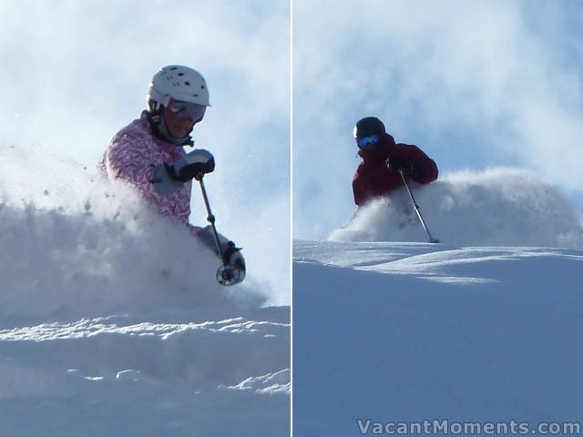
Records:
<instances>
[{"instance_id":1,"label":"all snow in the left-hand photo, slope and flying powder together","mask_svg":"<svg viewBox=\"0 0 583 437\"><path fill-rule=\"evenodd\" d=\"M290 308L261 278L222 288L209 249L92 171L0 159L0 435L289 434Z\"/></svg>"}]
</instances>

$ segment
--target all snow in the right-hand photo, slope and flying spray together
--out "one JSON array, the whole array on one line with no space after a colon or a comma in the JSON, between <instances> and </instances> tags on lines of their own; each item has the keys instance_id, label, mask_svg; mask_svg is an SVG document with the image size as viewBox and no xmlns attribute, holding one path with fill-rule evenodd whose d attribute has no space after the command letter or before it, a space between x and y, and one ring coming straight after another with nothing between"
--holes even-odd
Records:
<instances>
[{"instance_id":1,"label":"all snow in the right-hand photo, slope and flying spray together","mask_svg":"<svg viewBox=\"0 0 583 437\"><path fill-rule=\"evenodd\" d=\"M294 432L583 422L577 211L520 169L413 189L441 244L404 190L294 243Z\"/></svg>"}]
</instances>

